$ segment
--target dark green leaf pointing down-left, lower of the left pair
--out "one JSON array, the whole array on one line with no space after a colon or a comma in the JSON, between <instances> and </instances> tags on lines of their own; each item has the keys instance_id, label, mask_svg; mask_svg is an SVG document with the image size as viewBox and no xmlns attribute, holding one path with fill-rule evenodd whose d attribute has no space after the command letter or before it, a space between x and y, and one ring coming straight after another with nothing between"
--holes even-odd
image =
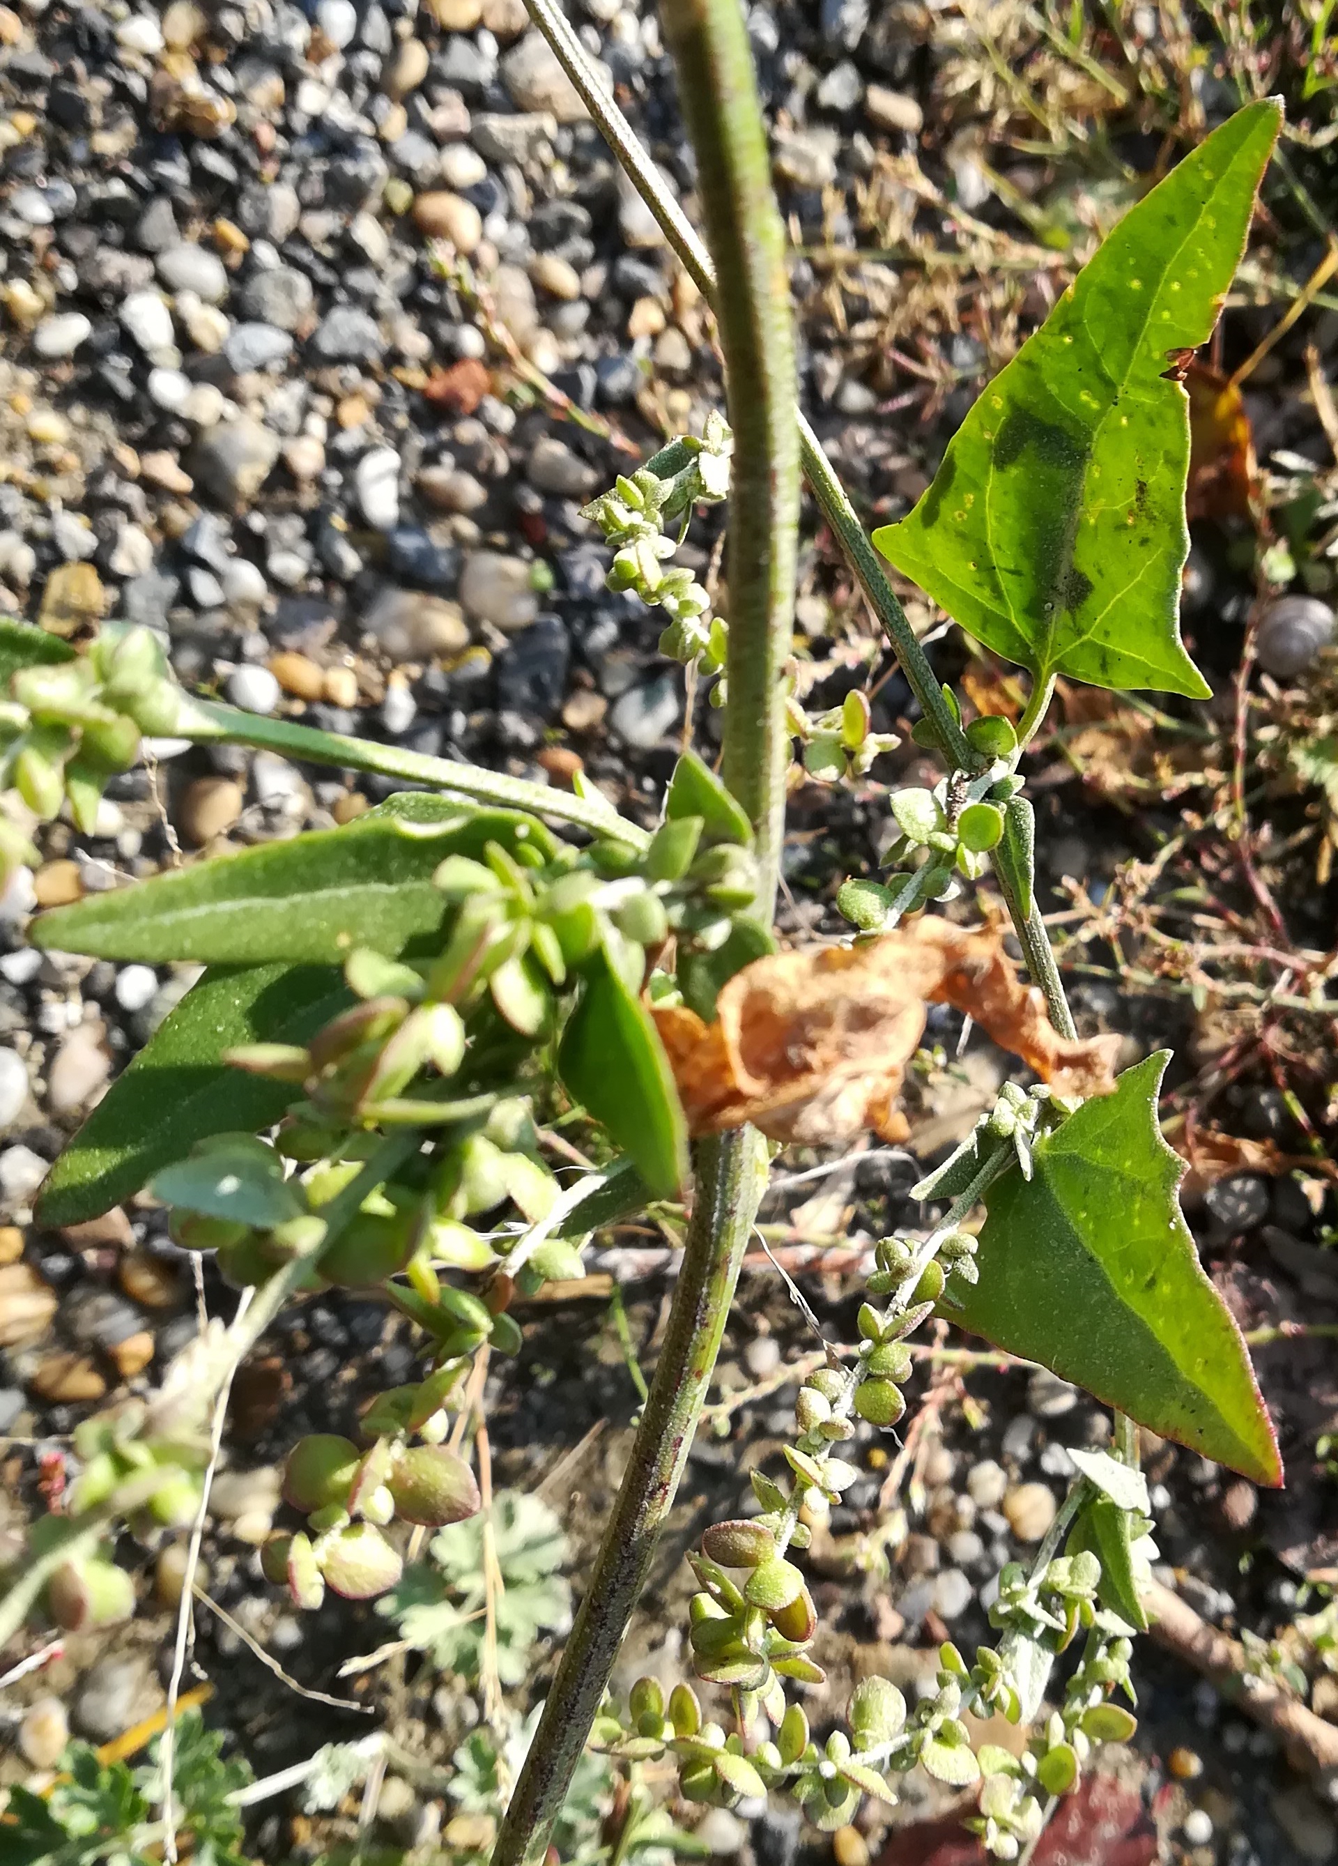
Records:
<instances>
[{"instance_id":1,"label":"dark green leaf pointing down-left, lower of the left pair","mask_svg":"<svg viewBox=\"0 0 1338 1866\"><path fill-rule=\"evenodd\" d=\"M41 1224L82 1224L131 1198L196 1140L259 1133L300 1095L220 1062L241 1043L302 1043L351 1002L325 965L205 972L119 1075L60 1155L37 1200Z\"/></svg>"}]
</instances>

